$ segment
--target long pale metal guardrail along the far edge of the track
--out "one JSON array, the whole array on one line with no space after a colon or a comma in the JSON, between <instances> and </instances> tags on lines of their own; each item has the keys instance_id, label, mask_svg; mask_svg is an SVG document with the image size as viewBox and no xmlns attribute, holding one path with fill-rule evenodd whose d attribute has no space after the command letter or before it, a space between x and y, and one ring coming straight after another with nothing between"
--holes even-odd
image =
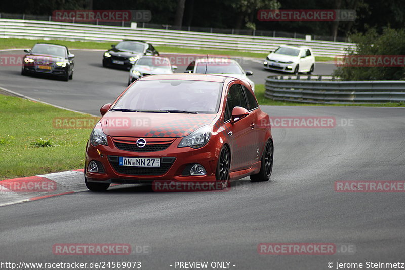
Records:
<instances>
[{"instance_id":1,"label":"long pale metal guardrail along the far edge of the track","mask_svg":"<svg viewBox=\"0 0 405 270\"><path fill-rule=\"evenodd\" d=\"M294 38L272 38L249 35L130 28L104 25L73 24L34 20L0 19L0 37L44 38L70 41L120 41L125 38L148 41L154 45L195 49L240 50L268 53L282 44L311 47L315 56L342 56L352 43L306 41Z\"/></svg>"}]
</instances>

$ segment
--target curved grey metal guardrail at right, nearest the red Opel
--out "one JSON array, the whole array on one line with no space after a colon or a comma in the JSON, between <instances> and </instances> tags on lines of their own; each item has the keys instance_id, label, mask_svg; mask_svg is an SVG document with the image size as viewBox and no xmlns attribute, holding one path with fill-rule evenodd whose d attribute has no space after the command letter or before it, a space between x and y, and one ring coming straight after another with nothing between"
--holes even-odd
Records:
<instances>
[{"instance_id":1,"label":"curved grey metal guardrail at right, nearest the red Opel","mask_svg":"<svg viewBox=\"0 0 405 270\"><path fill-rule=\"evenodd\" d=\"M324 104L405 102L405 81L338 81L331 76L269 76L264 96Z\"/></svg>"}]
</instances>

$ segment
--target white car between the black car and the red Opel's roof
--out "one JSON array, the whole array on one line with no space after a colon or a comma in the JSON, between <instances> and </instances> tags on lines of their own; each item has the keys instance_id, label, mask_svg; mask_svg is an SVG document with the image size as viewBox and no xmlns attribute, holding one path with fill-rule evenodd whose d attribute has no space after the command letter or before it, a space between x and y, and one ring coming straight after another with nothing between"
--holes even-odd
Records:
<instances>
[{"instance_id":1,"label":"white car between the black car and the red Opel's roof","mask_svg":"<svg viewBox=\"0 0 405 270\"><path fill-rule=\"evenodd\" d=\"M172 66L167 57L143 56L131 67L128 85L143 76L173 74L175 69L177 66Z\"/></svg>"}]
</instances>

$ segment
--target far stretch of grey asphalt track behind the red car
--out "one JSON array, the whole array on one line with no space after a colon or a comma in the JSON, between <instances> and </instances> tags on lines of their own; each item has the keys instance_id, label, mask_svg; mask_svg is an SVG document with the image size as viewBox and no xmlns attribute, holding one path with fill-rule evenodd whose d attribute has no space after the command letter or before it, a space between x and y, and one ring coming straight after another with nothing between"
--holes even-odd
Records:
<instances>
[{"instance_id":1,"label":"far stretch of grey asphalt track behind the red car","mask_svg":"<svg viewBox=\"0 0 405 270\"><path fill-rule=\"evenodd\" d=\"M112 103L126 88L129 71L102 67L102 51L72 50L75 54L73 80L64 82L48 77L21 76L21 65L0 64L0 86L16 91L31 98L54 105L99 115L99 109L106 103ZM24 56L22 50L3 51L0 56ZM180 64L176 72L184 72L188 62L178 55ZM3 61L5 61L3 59ZM262 60L239 59L245 70L253 71L250 77L255 84L264 84L271 74L262 68ZM330 75L334 64L318 63L314 74Z\"/></svg>"}]
</instances>

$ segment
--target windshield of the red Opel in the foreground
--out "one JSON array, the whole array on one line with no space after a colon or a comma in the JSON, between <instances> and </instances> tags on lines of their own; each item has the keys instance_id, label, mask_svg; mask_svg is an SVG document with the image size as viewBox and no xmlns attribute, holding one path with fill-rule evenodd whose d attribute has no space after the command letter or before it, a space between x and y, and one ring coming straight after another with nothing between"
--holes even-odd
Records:
<instances>
[{"instance_id":1,"label":"windshield of the red Opel in the foreground","mask_svg":"<svg viewBox=\"0 0 405 270\"><path fill-rule=\"evenodd\" d=\"M138 81L118 100L113 110L217 113L222 85L191 80Z\"/></svg>"}]
</instances>

